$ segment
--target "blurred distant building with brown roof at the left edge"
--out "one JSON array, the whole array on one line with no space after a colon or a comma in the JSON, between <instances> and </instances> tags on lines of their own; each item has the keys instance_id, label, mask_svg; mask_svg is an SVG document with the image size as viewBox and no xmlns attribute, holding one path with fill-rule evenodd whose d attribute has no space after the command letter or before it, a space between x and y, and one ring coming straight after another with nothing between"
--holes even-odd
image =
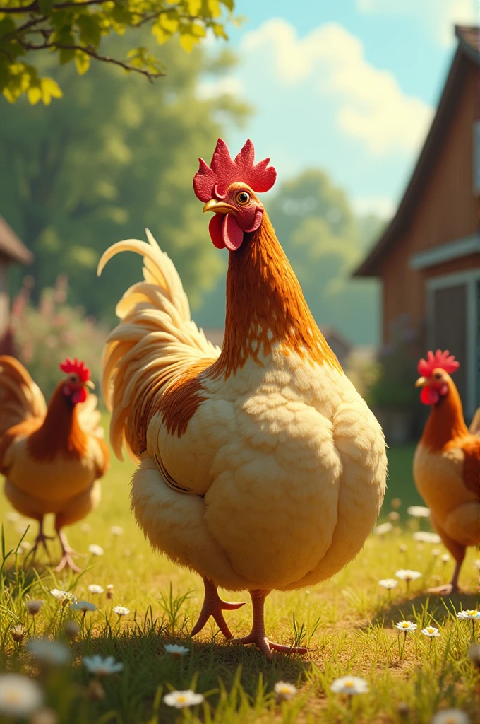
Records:
<instances>
[{"instance_id":1,"label":"blurred distant building with brown roof at the left edge","mask_svg":"<svg viewBox=\"0 0 480 724\"><path fill-rule=\"evenodd\" d=\"M12 353L12 333L9 329L9 266L31 264L33 254L0 216L0 354Z\"/></svg>"}]
</instances>

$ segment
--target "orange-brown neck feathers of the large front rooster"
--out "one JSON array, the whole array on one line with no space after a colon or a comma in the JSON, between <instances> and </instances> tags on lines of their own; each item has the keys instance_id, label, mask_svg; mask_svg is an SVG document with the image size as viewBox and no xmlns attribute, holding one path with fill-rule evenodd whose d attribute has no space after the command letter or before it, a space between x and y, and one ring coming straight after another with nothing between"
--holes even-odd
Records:
<instances>
[{"instance_id":1,"label":"orange-brown neck feathers of the large front rooster","mask_svg":"<svg viewBox=\"0 0 480 724\"><path fill-rule=\"evenodd\" d=\"M229 257L225 337L213 374L235 374L249 357L261 364L260 354L270 355L277 343L286 355L295 352L340 369L266 213Z\"/></svg>"}]
</instances>

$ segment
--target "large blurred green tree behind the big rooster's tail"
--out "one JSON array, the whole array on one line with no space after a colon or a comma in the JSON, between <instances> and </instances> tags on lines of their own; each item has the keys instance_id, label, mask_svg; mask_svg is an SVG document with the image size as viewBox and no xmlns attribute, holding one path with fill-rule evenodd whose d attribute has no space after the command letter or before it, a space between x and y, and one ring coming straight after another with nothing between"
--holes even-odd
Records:
<instances>
[{"instance_id":1,"label":"large blurred green tree behind the big rooster's tail","mask_svg":"<svg viewBox=\"0 0 480 724\"><path fill-rule=\"evenodd\" d=\"M0 214L35 253L34 300L64 273L71 303L110 321L139 279L140 260L121 255L97 280L98 258L119 239L145 238L145 227L173 258L191 301L215 282L221 262L192 179L198 156L207 157L222 132L218 114L236 123L247 107L228 95L199 97L210 70L202 49L187 56L169 43L163 61L169 72L155 85L108 65L83 78L66 66L52 69L66 88L60 104L32 107L21 98L6 113L0 98ZM231 62L222 54L211 70Z\"/></svg>"}]
</instances>

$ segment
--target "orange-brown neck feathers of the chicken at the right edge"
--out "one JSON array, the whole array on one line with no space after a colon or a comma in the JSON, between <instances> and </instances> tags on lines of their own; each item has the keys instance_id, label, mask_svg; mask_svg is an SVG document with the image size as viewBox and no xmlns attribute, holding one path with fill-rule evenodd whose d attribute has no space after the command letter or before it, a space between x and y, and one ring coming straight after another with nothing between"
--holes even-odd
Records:
<instances>
[{"instance_id":1,"label":"orange-brown neck feathers of the chicken at the right edge","mask_svg":"<svg viewBox=\"0 0 480 724\"><path fill-rule=\"evenodd\" d=\"M463 408L457 387L449 382L447 395L437 405L432 405L421 443L432 451L440 451L459 437L468 435L463 419Z\"/></svg>"}]
</instances>

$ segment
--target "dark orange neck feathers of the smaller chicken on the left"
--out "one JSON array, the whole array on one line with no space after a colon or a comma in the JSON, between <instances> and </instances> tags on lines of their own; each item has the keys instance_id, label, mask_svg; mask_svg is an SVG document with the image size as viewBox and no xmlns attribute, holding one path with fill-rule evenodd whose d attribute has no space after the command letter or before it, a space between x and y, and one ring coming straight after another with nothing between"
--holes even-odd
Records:
<instances>
[{"instance_id":1,"label":"dark orange neck feathers of the smaller chicken on the left","mask_svg":"<svg viewBox=\"0 0 480 724\"><path fill-rule=\"evenodd\" d=\"M63 386L64 382L57 385L42 426L28 438L27 450L37 460L53 460L58 454L81 458L87 450L87 435L78 423L77 405L65 397Z\"/></svg>"}]
</instances>

